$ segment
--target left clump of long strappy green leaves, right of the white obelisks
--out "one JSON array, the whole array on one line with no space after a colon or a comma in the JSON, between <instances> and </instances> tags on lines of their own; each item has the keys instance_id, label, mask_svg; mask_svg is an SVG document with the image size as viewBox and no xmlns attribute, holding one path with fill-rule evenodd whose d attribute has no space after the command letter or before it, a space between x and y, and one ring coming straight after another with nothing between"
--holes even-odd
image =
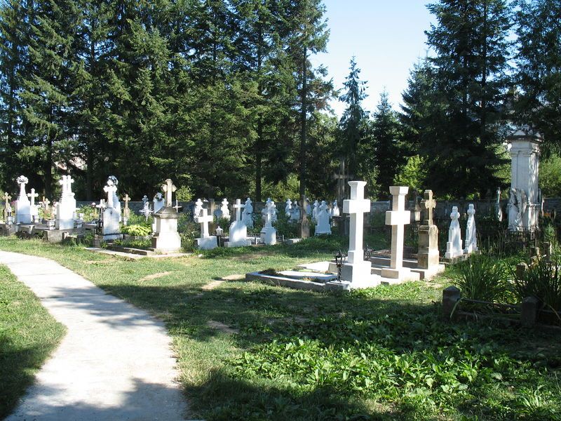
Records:
<instances>
[{"instance_id":1,"label":"left clump of long strappy green leaves, right of the white obelisks","mask_svg":"<svg viewBox=\"0 0 561 421\"><path fill-rule=\"evenodd\" d=\"M488 302L508 302L512 284L500 260L486 255L472 255L457 265L454 285L460 288L462 298Z\"/></svg>"}]
</instances>

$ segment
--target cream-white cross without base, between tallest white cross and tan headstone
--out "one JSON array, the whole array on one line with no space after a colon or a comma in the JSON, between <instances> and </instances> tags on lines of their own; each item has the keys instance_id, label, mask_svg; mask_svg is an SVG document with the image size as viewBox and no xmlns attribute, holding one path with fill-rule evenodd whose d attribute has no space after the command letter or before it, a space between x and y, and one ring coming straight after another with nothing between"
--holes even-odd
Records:
<instances>
[{"instance_id":1,"label":"cream-white cross without base, between tallest white cross and tan headstone","mask_svg":"<svg viewBox=\"0 0 561 421\"><path fill-rule=\"evenodd\" d=\"M391 186L391 210L386 211L386 225L391 225L390 268L397 271L403 268L403 236L405 225L411 222L411 212L405 210L405 195L408 190L409 187Z\"/></svg>"}]
</instances>

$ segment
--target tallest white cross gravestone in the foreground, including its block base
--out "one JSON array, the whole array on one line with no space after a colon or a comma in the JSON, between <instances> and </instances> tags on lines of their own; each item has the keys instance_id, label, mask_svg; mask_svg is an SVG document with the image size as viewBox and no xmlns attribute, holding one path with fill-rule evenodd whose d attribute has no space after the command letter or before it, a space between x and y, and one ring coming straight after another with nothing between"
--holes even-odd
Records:
<instances>
[{"instance_id":1,"label":"tallest white cross gravestone in the foreground, including its block base","mask_svg":"<svg viewBox=\"0 0 561 421\"><path fill-rule=\"evenodd\" d=\"M372 263L364 260L363 234L364 214L370 212L370 199L364 198L365 181L349 181L351 198L343 201L343 212L350 214L349 254L341 267L341 278L351 288L375 286ZM379 283L379 282L378 282Z\"/></svg>"}]
</instances>

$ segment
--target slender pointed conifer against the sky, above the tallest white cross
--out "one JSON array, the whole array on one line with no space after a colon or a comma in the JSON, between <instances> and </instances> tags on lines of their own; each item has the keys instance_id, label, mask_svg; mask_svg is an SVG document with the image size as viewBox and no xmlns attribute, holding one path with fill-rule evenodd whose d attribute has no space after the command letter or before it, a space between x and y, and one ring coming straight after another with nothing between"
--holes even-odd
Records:
<instances>
[{"instance_id":1,"label":"slender pointed conifer against the sky, above the tallest white cross","mask_svg":"<svg viewBox=\"0 0 561 421\"><path fill-rule=\"evenodd\" d=\"M349 174L362 178L362 173L357 173L357 147L365 140L368 127L368 113L363 109L362 102L368 95L365 93L365 81L359 79L360 69L355 58L351 58L349 76L343 83L345 93L339 100L345 102L347 107L339 121L339 142L341 144L341 158L348 162ZM364 174L366 175L366 174Z\"/></svg>"}]
</instances>

